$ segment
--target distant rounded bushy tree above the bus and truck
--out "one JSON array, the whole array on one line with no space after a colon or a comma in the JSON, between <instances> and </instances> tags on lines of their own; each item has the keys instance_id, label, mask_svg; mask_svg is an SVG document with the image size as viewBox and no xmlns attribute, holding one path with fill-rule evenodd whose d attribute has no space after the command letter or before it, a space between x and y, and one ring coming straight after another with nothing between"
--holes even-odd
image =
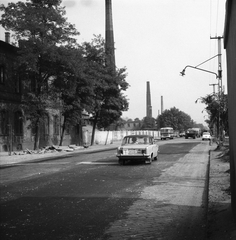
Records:
<instances>
[{"instance_id":1,"label":"distant rounded bushy tree above the bus and truck","mask_svg":"<svg viewBox=\"0 0 236 240\"><path fill-rule=\"evenodd\" d=\"M193 124L194 122L188 114L175 107L165 110L157 118L157 125L159 128L172 127L174 130L181 131L193 127Z\"/></svg>"}]
</instances>

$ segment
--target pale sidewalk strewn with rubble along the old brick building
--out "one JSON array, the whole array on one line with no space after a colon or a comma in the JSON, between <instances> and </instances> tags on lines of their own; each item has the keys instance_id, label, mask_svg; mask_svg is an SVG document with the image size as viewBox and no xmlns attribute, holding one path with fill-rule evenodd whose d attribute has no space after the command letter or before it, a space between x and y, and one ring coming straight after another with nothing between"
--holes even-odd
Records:
<instances>
[{"instance_id":1,"label":"pale sidewalk strewn with rubble along the old brick building","mask_svg":"<svg viewBox=\"0 0 236 240\"><path fill-rule=\"evenodd\" d=\"M28 162L36 159L43 159L43 158L54 158L59 156L66 156L66 155L73 155L75 153L83 153L83 152L93 152L93 151L99 151L104 149L114 149L120 145L120 141L114 142L112 144L99 144L99 145L93 145L89 146L88 148L84 147L75 147L75 148L69 148L68 146L57 146L61 151L51 150L51 152L46 153L32 153L32 154L21 154L22 151L16 152L17 155L14 154L14 152L11 153L11 156L9 156L8 152L0 152L0 166L6 166L6 165L12 165L17 164L20 162Z\"/></svg>"}]
</instances>

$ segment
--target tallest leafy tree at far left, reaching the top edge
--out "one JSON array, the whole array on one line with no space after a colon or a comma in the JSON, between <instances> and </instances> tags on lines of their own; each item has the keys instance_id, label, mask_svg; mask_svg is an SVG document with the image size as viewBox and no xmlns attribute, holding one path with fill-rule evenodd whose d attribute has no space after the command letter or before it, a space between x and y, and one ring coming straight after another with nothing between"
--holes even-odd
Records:
<instances>
[{"instance_id":1,"label":"tallest leafy tree at far left, reaching the top edge","mask_svg":"<svg viewBox=\"0 0 236 240\"><path fill-rule=\"evenodd\" d=\"M27 91L23 95L23 109L31 127L35 129L35 145L39 147L40 124L47 109L55 103L50 91L55 79L58 46L74 46L79 33L66 21L61 0L28 0L0 6L4 12L0 24L14 32L19 41L18 69Z\"/></svg>"}]
</instances>

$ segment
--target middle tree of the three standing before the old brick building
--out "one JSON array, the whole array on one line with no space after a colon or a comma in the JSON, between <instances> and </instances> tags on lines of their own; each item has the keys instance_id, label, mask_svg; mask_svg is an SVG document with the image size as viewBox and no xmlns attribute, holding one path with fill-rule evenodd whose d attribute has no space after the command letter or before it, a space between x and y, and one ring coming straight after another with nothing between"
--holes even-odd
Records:
<instances>
[{"instance_id":1,"label":"middle tree of the three standing before the old brick building","mask_svg":"<svg viewBox=\"0 0 236 240\"><path fill-rule=\"evenodd\" d=\"M89 82L83 77L84 59L80 48L60 49L56 62L57 75L52 83L54 93L60 98L63 116L60 145L69 126L79 126L79 144L82 144L82 111L89 97Z\"/></svg>"}]
</instances>

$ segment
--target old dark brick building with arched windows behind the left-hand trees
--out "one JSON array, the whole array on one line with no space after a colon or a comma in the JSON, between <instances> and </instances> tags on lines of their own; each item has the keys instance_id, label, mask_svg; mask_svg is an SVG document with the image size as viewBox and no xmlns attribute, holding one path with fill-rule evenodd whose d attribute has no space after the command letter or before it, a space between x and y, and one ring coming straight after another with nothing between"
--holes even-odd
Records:
<instances>
[{"instance_id":1,"label":"old dark brick building with arched windows behind the left-hand trees","mask_svg":"<svg viewBox=\"0 0 236 240\"><path fill-rule=\"evenodd\" d=\"M10 34L0 41L0 151L34 149L35 132L21 108L23 79L15 71L18 48L10 44ZM59 145L63 117L60 111L47 109L48 115L40 125L39 147ZM82 112L82 124L66 128L63 145L83 145L84 132L90 124L86 112Z\"/></svg>"}]
</instances>

